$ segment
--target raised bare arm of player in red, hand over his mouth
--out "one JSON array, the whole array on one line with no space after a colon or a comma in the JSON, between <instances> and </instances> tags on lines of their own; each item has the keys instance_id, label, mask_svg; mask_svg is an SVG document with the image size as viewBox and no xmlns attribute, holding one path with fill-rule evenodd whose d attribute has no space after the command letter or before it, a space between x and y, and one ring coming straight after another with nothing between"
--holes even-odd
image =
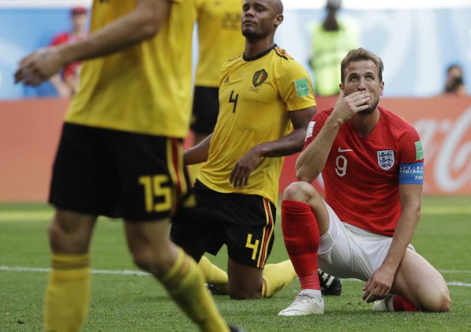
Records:
<instances>
[{"instance_id":1,"label":"raised bare arm of player in red, hand over his mouth","mask_svg":"<svg viewBox=\"0 0 471 332\"><path fill-rule=\"evenodd\" d=\"M354 92L348 96L343 95L340 89L339 98L334 110L325 121L314 141L299 155L296 161L296 178L299 181L311 183L324 168L334 139L343 125L356 113L366 109L365 104L369 100L369 94L363 91Z\"/></svg>"}]
</instances>

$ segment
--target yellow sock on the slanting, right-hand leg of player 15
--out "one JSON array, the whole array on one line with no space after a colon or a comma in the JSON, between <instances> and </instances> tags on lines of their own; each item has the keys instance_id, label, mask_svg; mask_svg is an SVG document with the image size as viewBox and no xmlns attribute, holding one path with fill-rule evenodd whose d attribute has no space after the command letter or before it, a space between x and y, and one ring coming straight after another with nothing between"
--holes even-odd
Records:
<instances>
[{"instance_id":1,"label":"yellow sock on the slanting, right-hand leg of player 15","mask_svg":"<svg viewBox=\"0 0 471 332\"><path fill-rule=\"evenodd\" d=\"M204 332L229 332L229 328L204 285L204 277L193 258L178 248L175 265L160 279L172 299Z\"/></svg>"}]
</instances>

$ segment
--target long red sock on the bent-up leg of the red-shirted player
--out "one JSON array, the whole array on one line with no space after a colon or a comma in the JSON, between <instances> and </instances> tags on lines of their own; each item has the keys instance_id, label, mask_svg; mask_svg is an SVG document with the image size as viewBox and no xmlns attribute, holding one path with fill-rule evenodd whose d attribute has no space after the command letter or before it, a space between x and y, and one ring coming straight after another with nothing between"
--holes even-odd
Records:
<instances>
[{"instance_id":1,"label":"long red sock on the bent-up leg of the red-shirted player","mask_svg":"<svg viewBox=\"0 0 471 332\"><path fill-rule=\"evenodd\" d=\"M281 202L281 228L289 259L301 282L301 289L320 290L317 273L319 227L309 204Z\"/></svg>"}]
</instances>

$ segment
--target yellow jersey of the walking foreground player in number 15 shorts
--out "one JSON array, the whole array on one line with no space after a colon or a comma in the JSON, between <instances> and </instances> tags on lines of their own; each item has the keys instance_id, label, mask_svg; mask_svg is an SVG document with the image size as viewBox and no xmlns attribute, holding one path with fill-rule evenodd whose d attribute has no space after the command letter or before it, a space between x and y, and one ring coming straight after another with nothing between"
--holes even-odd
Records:
<instances>
[{"instance_id":1,"label":"yellow jersey of the walking foreground player in number 15 shorts","mask_svg":"<svg viewBox=\"0 0 471 332\"><path fill-rule=\"evenodd\" d=\"M91 32L130 13L136 1L99 1ZM84 61L65 121L168 137L185 137L191 116L194 0L173 0L157 35L129 49Z\"/></svg>"}]
</instances>

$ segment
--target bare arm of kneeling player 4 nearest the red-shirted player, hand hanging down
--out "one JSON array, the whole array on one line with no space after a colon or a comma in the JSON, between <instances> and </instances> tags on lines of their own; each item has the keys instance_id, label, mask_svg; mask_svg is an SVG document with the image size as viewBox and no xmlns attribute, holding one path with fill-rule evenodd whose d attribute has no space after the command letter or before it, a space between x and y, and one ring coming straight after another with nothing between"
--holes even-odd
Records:
<instances>
[{"instance_id":1,"label":"bare arm of kneeling player 4 nearest the red-shirted player, hand hanging down","mask_svg":"<svg viewBox=\"0 0 471 332\"><path fill-rule=\"evenodd\" d=\"M289 111L288 116L293 124L294 130L285 137L276 141L265 142L252 147L235 163L229 183L233 183L234 188L241 188L247 185L250 173L260 164L263 157L282 157L297 153L304 146L304 138L308 129L309 121L315 114L315 106Z\"/></svg>"}]
</instances>

